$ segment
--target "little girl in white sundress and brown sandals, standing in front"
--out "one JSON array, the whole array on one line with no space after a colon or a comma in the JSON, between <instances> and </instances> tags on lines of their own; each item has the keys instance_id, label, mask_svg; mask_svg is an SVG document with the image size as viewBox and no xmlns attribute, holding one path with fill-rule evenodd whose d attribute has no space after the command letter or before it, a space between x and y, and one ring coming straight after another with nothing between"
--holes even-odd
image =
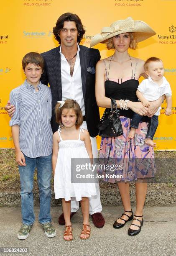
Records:
<instances>
[{"instance_id":1,"label":"little girl in white sundress and brown sandals, standing in front","mask_svg":"<svg viewBox=\"0 0 176 256\"><path fill-rule=\"evenodd\" d=\"M80 128L82 112L75 100L60 101L56 104L56 123L59 129L53 135L53 170L55 198L62 198L65 219L64 240L73 240L70 213L71 197L81 201L83 230L81 239L90 236L89 198L96 195L94 183L71 183L71 158L93 159L88 131Z\"/></svg>"}]
</instances>

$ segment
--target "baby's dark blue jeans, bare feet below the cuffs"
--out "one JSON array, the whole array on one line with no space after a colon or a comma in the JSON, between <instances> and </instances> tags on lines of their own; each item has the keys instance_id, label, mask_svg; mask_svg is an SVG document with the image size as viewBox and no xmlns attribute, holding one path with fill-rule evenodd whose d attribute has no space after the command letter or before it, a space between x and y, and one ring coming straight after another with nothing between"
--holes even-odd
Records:
<instances>
[{"instance_id":1,"label":"baby's dark blue jeans, bare feet below the cuffs","mask_svg":"<svg viewBox=\"0 0 176 256\"><path fill-rule=\"evenodd\" d=\"M141 118L142 118L142 115L134 113L130 126L132 128L138 129L138 125L140 123ZM150 138L151 140L153 140L157 127L158 127L158 115L153 115L153 117L151 117L149 121L146 138Z\"/></svg>"}]
</instances>

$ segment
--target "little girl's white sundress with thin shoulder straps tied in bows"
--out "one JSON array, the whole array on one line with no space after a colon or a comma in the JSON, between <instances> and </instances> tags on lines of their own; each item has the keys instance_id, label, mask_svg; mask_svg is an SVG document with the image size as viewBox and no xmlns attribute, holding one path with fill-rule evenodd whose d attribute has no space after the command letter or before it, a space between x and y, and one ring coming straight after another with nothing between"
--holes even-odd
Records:
<instances>
[{"instance_id":1,"label":"little girl's white sundress with thin shoulder straps tied in bows","mask_svg":"<svg viewBox=\"0 0 176 256\"><path fill-rule=\"evenodd\" d=\"M94 183L71 183L71 158L89 159L84 141L80 139L80 133L84 133L81 128L78 140L63 140L60 137L59 152L54 175L54 193L55 198L65 198L66 201L75 197L77 201L82 197L91 197L97 195Z\"/></svg>"}]
</instances>

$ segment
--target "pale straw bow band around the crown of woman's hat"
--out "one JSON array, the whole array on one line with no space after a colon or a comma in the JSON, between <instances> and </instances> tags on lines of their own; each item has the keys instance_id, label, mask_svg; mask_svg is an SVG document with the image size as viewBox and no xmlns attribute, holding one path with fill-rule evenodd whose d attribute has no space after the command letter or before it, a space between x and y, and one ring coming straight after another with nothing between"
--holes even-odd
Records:
<instances>
[{"instance_id":1,"label":"pale straw bow band around the crown of woman's hat","mask_svg":"<svg viewBox=\"0 0 176 256\"><path fill-rule=\"evenodd\" d=\"M125 20L125 23L119 24L111 27L103 27L101 31L101 35L106 37L112 33L124 30L124 29L133 29L134 28L134 20Z\"/></svg>"}]
</instances>

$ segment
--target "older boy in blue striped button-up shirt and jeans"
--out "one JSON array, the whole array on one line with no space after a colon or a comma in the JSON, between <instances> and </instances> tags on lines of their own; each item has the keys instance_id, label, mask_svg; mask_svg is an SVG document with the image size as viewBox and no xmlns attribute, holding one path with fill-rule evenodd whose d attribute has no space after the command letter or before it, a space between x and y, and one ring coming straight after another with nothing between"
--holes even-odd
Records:
<instances>
[{"instance_id":1,"label":"older boy in blue striped button-up shirt and jeans","mask_svg":"<svg viewBox=\"0 0 176 256\"><path fill-rule=\"evenodd\" d=\"M40 194L38 220L47 237L56 236L51 224L51 90L41 84L44 60L36 52L23 57L25 82L10 92L10 102L15 112L10 120L16 161L19 165L21 184L21 214L23 225L18 231L19 239L26 239L33 226L33 174L37 168Z\"/></svg>"}]
</instances>

